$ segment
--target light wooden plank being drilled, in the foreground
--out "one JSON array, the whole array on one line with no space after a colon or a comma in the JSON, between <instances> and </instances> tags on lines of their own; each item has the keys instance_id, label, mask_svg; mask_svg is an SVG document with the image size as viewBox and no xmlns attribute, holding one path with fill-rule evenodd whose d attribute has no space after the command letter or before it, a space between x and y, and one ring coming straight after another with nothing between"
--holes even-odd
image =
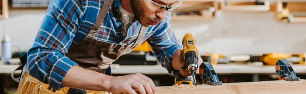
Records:
<instances>
[{"instance_id":1,"label":"light wooden plank being drilled, in the foreground","mask_svg":"<svg viewBox=\"0 0 306 94\"><path fill-rule=\"evenodd\" d=\"M167 89L159 86L158 93L304 93L306 80L300 81L260 81L242 83L223 83L219 86L197 85L195 88Z\"/></svg>"}]
</instances>

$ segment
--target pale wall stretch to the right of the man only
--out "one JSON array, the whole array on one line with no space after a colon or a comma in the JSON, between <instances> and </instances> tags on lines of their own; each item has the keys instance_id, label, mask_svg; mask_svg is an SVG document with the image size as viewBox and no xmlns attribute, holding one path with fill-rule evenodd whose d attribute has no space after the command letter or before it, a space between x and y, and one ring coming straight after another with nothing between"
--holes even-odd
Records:
<instances>
[{"instance_id":1,"label":"pale wall stretch to the right of the man only","mask_svg":"<svg viewBox=\"0 0 306 94\"><path fill-rule=\"evenodd\" d=\"M274 20L274 13L221 13L216 19L172 22L177 38L193 33L200 54L306 52L306 23Z\"/></svg>"}]
</instances>

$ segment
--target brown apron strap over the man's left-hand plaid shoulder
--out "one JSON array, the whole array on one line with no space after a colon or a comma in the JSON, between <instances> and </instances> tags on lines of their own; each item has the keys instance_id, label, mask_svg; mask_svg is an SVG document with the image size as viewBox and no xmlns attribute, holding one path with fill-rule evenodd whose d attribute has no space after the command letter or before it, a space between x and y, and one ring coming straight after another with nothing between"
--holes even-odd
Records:
<instances>
[{"instance_id":1,"label":"brown apron strap over the man's left-hand plaid shoulder","mask_svg":"<svg viewBox=\"0 0 306 94\"><path fill-rule=\"evenodd\" d=\"M108 13L108 11L110 10L113 2L114 2L114 0L106 0L104 2L95 23L93 24L92 28L90 29L90 31L88 33L88 36L94 37L97 30L99 30L99 28L101 27L101 25L103 23L103 20L104 20L106 14Z\"/></svg>"}]
</instances>

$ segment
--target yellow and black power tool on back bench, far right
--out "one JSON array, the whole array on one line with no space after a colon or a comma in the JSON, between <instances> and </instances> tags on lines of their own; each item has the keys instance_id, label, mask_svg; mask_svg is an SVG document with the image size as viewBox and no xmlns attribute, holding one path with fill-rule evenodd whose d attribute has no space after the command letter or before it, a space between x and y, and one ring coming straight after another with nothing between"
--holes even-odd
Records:
<instances>
[{"instance_id":1,"label":"yellow and black power tool on back bench, far right","mask_svg":"<svg viewBox=\"0 0 306 94\"><path fill-rule=\"evenodd\" d=\"M289 55L283 53L269 53L261 56L251 56L250 62L263 62L266 65L274 66L275 62L280 59L286 59L291 63L305 64L305 56L303 54Z\"/></svg>"}]
</instances>

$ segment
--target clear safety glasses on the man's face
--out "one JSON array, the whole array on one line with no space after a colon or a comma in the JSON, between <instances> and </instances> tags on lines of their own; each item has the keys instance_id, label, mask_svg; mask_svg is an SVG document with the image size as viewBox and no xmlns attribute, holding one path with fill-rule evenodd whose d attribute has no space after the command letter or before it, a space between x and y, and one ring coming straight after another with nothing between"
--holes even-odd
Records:
<instances>
[{"instance_id":1,"label":"clear safety glasses on the man's face","mask_svg":"<svg viewBox=\"0 0 306 94\"><path fill-rule=\"evenodd\" d=\"M144 1L145 1L145 4L152 10L155 10L155 11L167 10L168 12L171 12L171 11L176 10L177 8L180 8L183 0L177 0L175 3L172 3L169 6L162 5L163 0L156 0L156 1L160 1L161 3L157 3L152 0L144 0Z\"/></svg>"}]
</instances>

